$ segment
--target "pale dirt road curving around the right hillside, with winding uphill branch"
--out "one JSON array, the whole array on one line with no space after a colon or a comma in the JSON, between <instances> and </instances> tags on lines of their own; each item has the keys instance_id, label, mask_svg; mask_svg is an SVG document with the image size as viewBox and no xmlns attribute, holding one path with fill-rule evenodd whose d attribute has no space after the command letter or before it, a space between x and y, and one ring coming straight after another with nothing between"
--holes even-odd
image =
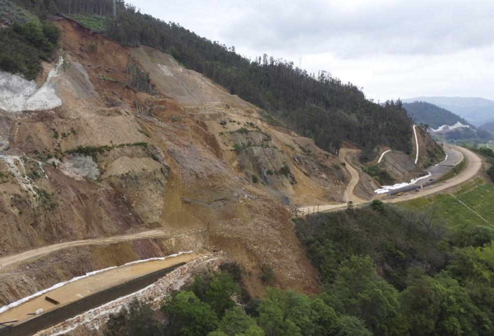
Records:
<instances>
[{"instance_id":1,"label":"pale dirt road curving around the right hillside, with winding uphill branch","mask_svg":"<svg viewBox=\"0 0 494 336\"><path fill-rule=\"evenodd\" d=\"M425 187L418 193L413 192L413 193L405 194L403 196L399 196L399 197L395 197L395 198L391 198L391 199L383 199L383 201L387 202L387 203L398 203L398 202L403 202L403 201L407 201L407 200L414 199L414 198L430 196L432 194L435 194L435 193L441 192L443 190L449 189L451 187L457 186L459 184L462 184L462 183L472 179L473 177L475 177L475 175L477 175L477 173L480 171L480 169L482 167L482 160L478 157L477 154L475 154L472 151L469 151L468 149L463 148L463 147L453 146L453 145L445 145L445 146L456 149L459 152L461 152L461 154L463 154L463 156L466 158L466 161L467 161L467 165L466 165L465 170L463 170L459 175L456 175L455 177L452 177L452 178L450 178L450 179L448 179L442 183L433 184L429 187ZM346 153L344 154L344 158L346 158L346 154L349 153L349 151L351 151L351 150L346 150ZM340 157L340 159L341 159L341 157ZM346 163L347 169L351 167L346 160L343 160L343 161ZM354 170L353 167L351 167L351 169ZM354 199L356 199L358 197L356 197L353 194L353 188L355 187L355 185L357 185L359 177L358 177L358 174L356 174L356 176L354 174L352 174L350 169L348 169L348 172L352 176L352 181L348 184L348 187L347 187L347 189L349 189L351 186L351 189L349 189L350 193L348 194L348 196L347 196L347 190L345 190L345 199L352 200L355 205L367 203L367 201L365 201L365 200L354 201ZM318 208L319 211L330 211L330 210L342 209L342 208L345 208L346 206L347 206L346 203L325 204L325 205L319 205L319 206L309 205L309 206L300 207L299 210L305 211L305 213L307 213L307 212L313 211L314 208Z\"/></svg>"}]
</instances>

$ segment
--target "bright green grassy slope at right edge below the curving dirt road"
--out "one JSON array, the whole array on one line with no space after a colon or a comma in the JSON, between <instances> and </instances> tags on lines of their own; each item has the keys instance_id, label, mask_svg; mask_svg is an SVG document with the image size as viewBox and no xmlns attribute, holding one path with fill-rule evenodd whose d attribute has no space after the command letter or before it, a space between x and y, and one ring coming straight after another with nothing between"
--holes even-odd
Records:
<instances>
[{"instance_id":1,"label":"bright green grassy slope at right edge below the curving dirt road","mask_svg":"<svg viewBox=\"0 0 494 336\"><path fill-rule=\"evenodd\" d=\"M491 184L477 178L464 184L454 195L494 225L494 206L492 206L494 204L494 187ZM450 229L465 225L493 228L449 193L417 198L401 203L401 206L420 212L430 211L436 206L437 215L445 221Z\"/></svg>"}]
</instances>

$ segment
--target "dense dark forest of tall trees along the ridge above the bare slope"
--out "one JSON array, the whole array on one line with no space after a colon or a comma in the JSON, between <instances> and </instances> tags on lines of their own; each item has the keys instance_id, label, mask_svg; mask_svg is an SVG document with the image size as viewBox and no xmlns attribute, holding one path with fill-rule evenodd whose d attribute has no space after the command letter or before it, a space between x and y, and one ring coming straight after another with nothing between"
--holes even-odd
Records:
<instances>
[{"instance_id":1,"label":"dense dark forest of tall trees along the ridge above the bare slope","mask_svg":"<svg viewBox=\"0 0 494 336\"><path fill-rule=\"evenodd\" d=\"M63 13L111 17L111 1L16 1L40 15ZM344 141L358 145L364 160L373 158L376 146L409 153L412 121L400 101L380 105L365 98L352 83L343 83L329 72L317 75L293 62L268 55L253 61L175 23L136 11L119 0L116 20L105 21L104 33L124 46L148 45L167 52L187 68L224 86L232 94L263 108L287 127L313 137L321 148L337 153ZM269 118L268 118L269 119Z\"/></svg>"}]
</instances>

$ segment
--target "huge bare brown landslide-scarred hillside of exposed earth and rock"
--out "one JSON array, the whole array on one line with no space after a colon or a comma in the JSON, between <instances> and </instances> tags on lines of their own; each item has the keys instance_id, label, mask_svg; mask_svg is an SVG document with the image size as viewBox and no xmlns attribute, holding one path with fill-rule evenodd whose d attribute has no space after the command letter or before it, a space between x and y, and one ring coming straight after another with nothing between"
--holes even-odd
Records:
<instances>
[{"instance_id":1,"label":"huge bare brown landslide-scarred hillside of exposed earth and rock","mask_svg":"<svg viewBox=\"0 0 494 336\"><path fill-rule=\"evenodd\" d=\"M37 81L49 78L43 87L60 106L0 111L1 253L160 229L190 234L196 248L227 251L249 271L253 293L262 290L263 264L282 287L316 290L284 204L341 202L349 178L341 161L269 125L258 107L169 55L123 48L69 20L57 24L55 56L63 61L42 62ZM36 267L43 277L32 263L16 267L1 280L5 297L111 260L81 264L79 257L66 251L43 259ZM73 267L60 272L58 258Z\"/></svg>"}]
</instances>

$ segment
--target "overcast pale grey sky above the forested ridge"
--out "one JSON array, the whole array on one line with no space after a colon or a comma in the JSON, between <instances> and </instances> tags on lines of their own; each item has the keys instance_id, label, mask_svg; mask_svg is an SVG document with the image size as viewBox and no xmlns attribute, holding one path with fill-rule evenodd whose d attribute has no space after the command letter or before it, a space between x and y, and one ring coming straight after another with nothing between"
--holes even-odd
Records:
<instances>
[{"instance_id":1,"label":"overcast pale grey sky above the forested ridge","mask_svg":"<svg viewBox=\"0 0 494 336\"><path fill-rule=\"evenodd\" d=\"M241 55L264 53L363 87L369 98L494 100L492 0L131 0Z\"/></svg>"}]
</instances>

